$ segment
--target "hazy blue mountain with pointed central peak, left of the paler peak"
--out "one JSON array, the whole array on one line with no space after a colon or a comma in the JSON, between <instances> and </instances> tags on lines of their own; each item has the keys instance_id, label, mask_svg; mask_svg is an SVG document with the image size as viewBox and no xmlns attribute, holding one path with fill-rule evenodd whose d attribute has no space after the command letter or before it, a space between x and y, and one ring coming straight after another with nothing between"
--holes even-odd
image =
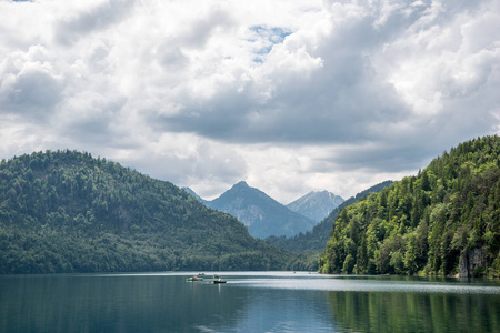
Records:
<instances>
[{"instance_id":1,"label":"hazy blue mountain with pointed central peak, left of the paler peak","mask_svg":"<svg viewBox=\"0 0 500 333\"><path fill-rule=\"evenodd\" d=\"M251 235L260 239L270 235L293 236L311 230L318 223L246 182L239 182L212 201L203 200L188 188L183 190L207 206L233 215L248 226Z\"/></svg>"}]
</instances>

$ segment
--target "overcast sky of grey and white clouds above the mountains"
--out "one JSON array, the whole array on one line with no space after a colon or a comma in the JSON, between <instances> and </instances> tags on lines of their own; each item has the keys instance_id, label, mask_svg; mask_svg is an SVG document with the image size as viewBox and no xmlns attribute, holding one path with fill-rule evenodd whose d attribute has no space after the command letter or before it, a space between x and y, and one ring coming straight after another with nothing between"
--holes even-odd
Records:
<instances>
[{"instance_id":1,"label":"overcast sky of grey and white clouds above the mountains","mask_svg":"<svg viewBox=\"0 0 500 333\"><path fill-rule=\"evenodd\" d=\"M0 0L0 158L348 199L500 132L498 0Z\"/></svg>"}]
</instances>

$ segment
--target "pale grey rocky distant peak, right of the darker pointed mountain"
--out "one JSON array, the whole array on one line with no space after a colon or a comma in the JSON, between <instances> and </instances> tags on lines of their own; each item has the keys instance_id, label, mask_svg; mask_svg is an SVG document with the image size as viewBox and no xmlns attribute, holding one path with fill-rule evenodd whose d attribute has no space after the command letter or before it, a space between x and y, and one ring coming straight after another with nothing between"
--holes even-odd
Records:
<instances>
[{"instance_id":1,"label":"pale grey rocky distant peak, right of the darker pointed mountain","mask_svg":"<svg viewBox=\"0 0 500 333\"><path fill-rule=\"evenodd\" d=\"M341 196L331 192L316 191L287 204L287 208L319 223L343 201Z\"/></svg>"}]
</instances>

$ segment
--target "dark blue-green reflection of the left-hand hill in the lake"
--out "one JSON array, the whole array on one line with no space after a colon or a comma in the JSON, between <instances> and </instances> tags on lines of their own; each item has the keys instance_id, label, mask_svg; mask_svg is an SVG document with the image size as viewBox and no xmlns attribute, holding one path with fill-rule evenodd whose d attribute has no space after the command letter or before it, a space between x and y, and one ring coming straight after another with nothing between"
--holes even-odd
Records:
<instances>
[{"instance_id":1,"label":"dark blue-green reflection of the left-hand hill in the lake","mask_svg":"<svg viewBox=\"0 0 500 333\"><path fill-rule=\"evenodd\" d=\"M229 319L248 305L230 289L188 283L186 276L46 275L0 282L0 332L190 332L207 317L216 326L230 325Z\"/></svg>"}]
</instances>

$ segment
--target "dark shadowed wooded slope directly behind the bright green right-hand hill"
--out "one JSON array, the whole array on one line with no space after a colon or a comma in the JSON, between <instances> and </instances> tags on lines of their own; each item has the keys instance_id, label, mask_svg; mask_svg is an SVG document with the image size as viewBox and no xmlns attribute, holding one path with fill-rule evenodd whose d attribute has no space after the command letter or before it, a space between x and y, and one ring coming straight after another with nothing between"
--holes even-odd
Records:
<instances>
[{"instance_id":1,"label":"dark shadowed wooded slope directly behind the bright green right-hand hill","mask_svg":"<svg viewBox=\"0 0 500 333\"><path fill-rule=\"evenodd\" d=\"M353 204L358 200L364 199L370 193L378 193L382 189L392 184L392 181L384 181L377 185L364 190L356 196L351 196L339 206L333 209L331 213L320 223L314 225L311 231L300 233L292 238L287 236L269 236L266 241L270 244L277 245L281 249L299 253L300 255L290 263L290 270L297 271L318 271L318 261L324 252L327 242L332 230L332 225L337 220L340 211L349 204Z\"/></svg>"}]
</instances>

